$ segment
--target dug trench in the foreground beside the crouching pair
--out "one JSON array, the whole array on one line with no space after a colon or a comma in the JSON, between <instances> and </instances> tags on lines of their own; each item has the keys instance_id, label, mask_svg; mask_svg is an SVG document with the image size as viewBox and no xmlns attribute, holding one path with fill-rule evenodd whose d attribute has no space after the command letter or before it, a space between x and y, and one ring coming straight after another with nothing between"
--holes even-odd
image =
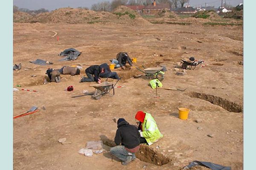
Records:
<instances>
[{"instance_id":1,"label":"dug trench in the foreground beside the crouching pair","mask_svg":"<svg viewBox=\"0 0 256 170\"><path fill-rule=\"evenodd\" d=\"M105 138L101 140L105 145L108 145L110 147L116 146L115 142L113 142L110 139ZM162 166L164 164L169 163L169 161L171 161L162 153L158 153L156 150L154 150L153 148L145 144L140 144L140 150L135 155L136 155L136 158L140 159L141 161L155 164L157 166Z\"/></svg>"}]
</instances>

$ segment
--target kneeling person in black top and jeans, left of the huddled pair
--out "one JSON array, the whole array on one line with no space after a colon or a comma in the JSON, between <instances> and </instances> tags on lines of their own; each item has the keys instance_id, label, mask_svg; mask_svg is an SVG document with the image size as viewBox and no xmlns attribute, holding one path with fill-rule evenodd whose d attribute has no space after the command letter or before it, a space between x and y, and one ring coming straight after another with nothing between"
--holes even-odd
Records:
<instances>
[{"instance_id":1,"label":"kneeling person in black top and jeans, left of the huddled pair","mask_svg":"<svg viewBox=\"0 0 256 170\"><path fill-rule=\"evenodd\" d=\"M82 77L80 79L80 82L97 82L101 83L101 80L99 78L99 74L101 72L101 69L99 65L91 65L90 67L85 69L85 74L87 77Z\"/></svg>"}]
</instances>

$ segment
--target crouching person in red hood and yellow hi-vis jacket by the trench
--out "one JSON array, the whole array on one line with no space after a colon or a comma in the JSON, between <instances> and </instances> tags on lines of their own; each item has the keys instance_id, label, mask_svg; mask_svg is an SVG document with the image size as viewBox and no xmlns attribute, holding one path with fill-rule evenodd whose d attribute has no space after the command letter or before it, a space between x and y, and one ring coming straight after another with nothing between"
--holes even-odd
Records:
<instances>
[{"instance_id":1,"label":"crouching person in red hood and yellow hi-vis jacket by the trench","mask_svg":"<svg viewBox=\"0 0 256 170\"><path fill-rule=\"evenodd\" d=\"M138 111L135 119L140 121L138 127L140 132L140 143L147 143L148 145L151 145L163 137L163 134L157 127L156 121L150 113Z\"/></svg>"}]
</instances>

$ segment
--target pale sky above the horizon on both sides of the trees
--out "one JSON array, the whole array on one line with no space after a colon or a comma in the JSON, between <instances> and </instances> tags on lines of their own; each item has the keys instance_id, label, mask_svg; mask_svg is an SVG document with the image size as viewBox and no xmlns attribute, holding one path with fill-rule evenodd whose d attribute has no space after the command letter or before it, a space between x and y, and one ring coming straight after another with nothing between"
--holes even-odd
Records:
<instances>
[{"instance_id":1,"label":"pale sky above the horizon on both sides of the trees","mask_svg":"<svg viewBox=\"0 0 256 170\"><path fill-rule=\"evenodd\" d=\"M79 6L90 8L92 4L102 1L106 0L14 0L13 4L19 8L28 8L30 10L45 8L51 11L68 6L71 8L77 8ZM189 0L190 6L194 7L205 6L205 3L207 6L215 6L215 8L221 6L221 0ZM226 3L237 6L239 3L243 3L243 0L226 0Z\"/></svg>"}]
</instances>

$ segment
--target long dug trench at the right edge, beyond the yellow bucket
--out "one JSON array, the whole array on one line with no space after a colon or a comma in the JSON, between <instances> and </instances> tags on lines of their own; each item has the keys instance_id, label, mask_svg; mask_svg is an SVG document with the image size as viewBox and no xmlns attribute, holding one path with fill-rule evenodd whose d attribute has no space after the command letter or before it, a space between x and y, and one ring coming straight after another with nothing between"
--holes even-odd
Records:
<instances>
[{"instance_id":1,"label":"long dug trench at the right edge, beyond the yellow bucket","mask_svg":"<svg viewBox=\"0 0 256 170\"><path fill-rule=\"evenodd\" d=\"M224 99L224 98L218 97L218 96L213 96L211 94L189 92L189 93L187 93L187 95L192 98L198 98L198 99L205 100L207 102L212 103L213 105L221 106L221 108L224 108L229 112L239 113L239 112L242 112L242 110L243 110L242 105L238 105L235 102L231 102L227 99Z\"/></svg>"}]
</instances>

